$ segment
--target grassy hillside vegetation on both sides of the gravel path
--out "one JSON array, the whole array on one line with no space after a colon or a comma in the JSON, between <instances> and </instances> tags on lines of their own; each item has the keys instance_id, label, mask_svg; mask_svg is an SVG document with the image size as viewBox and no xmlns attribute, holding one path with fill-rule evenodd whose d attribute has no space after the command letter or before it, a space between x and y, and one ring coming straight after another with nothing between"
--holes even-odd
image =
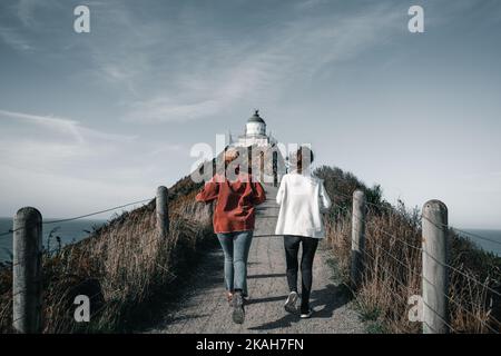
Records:
<instances>
[{"instance_id":1,"label":"grassy hillside vegetation on both sides of the gravel path","mask_svg":"<svg viewBox=\"0 0 501 356\"><path fill-rule=\"evenodd\" d=\"M355 189L366 194L369 212L363 285L355 304L370 329L419 333L407 319L407 297L421 294L421 215L403 202L392 206L381 187L366 187L350 172L321 167L333 206L326 216L327 251L335 274L348 284L351 201ZM202 184L185 177L169 188L170 226L167 240L155 230L155 200L124 212L91 236L43 256L45 333L130 332L154 313L151 304L173 297L179 275L191 270L194 256L214 244L212 206L195 202ZM456 333L501 330L501 260L450 230L451 324ZM275 246L274 248L278 248ZM397 260L400 263L397 263ZM403 264L403 265L402 265ZM0 268L0 332L12 323L11 266ZM481 284L473 283L481 281ZM169 290L169 293L165 293ZM91 322L76 324L73 298L91 298Z\"/></svg>"}]
</instances>

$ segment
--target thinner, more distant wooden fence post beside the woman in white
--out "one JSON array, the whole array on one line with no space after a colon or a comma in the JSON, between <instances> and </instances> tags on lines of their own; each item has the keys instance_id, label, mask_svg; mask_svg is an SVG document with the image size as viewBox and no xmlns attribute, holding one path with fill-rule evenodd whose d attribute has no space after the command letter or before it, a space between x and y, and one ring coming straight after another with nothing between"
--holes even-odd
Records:
<instances>
[{"instance_id":1,"label":"thinner, more distant wooden fence post beside the woman in white","mask_svg":"<svg viewBox=\"0 0 501 356\"><path fill-rule=\"evenodd\" d=\"M362 190L353 192L352 211L352 254L351 281L353 289L358 288L362 280L362 253L365 248L365 195Z\"/></svg>"}]
</instances>

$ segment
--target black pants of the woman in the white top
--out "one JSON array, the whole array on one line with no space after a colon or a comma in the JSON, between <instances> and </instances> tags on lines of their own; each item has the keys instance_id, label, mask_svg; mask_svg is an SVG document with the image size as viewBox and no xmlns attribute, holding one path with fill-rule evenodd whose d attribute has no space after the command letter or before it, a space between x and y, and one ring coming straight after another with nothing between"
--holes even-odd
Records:
<instances>
[{"instance_id":1,"label":"black pants of the woman in the white top","mask_svg":"<svg viewBox=\"0 0 501 356\"><path fill-rule=\"evenodd\" d=\"M310 308L310 294L312 291L312 267L315 257L318 239L303 236L284 236L285 260L287 263L287 283L291 291L297 291L297 254L299 245L303 245L303 255L301 256L301 312L306 313Z\"/></svg>"}]
</instances>

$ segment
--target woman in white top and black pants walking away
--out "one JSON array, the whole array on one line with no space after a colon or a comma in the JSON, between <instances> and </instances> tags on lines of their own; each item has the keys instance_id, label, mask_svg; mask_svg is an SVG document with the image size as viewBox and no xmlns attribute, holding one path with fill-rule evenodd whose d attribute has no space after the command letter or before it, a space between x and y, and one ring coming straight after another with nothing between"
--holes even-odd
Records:
<instances>
[{"instance_id":1,"label":"woman in white top and black pants walking away","mask_svg":"<svg viewBox=\"0 0 501 356\"><path fill-rule=\"evenodd\" d=\"M325 236L322 212L331 207L322 179L310 175L313 152L302 146L295 157L295 168L282 178L276 202L281 206L275 229L276 235L284 235L285 258L287 264L287 283L289 295L285 310L296 313L297 295L297 255L303 246L301 257L301 318L312 316L310 294L312 289L312 266L318 240ZM294 165L294 162L293 162Z\"/></svg>"}]
</instances>

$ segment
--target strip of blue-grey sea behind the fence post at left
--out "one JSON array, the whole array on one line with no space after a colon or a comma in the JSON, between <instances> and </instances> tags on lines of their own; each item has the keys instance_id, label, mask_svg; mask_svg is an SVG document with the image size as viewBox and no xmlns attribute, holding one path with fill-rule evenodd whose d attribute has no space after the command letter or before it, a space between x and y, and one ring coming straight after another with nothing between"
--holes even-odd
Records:
<instances>
[{"instance_id":1,"label":"strip of blue-grey sea behind the fence post at left","mask_svg":"<svg viewBox=\"0 0 501 356\"><path fill-rule=\"evenodd\" d=\"M45 221L55 220L58 219L47 219ZM43 225L43 247L47 248L49 246L50 250L57 248L57 236L60 237L62 246L79 241L89 236L88 231L92 231L92 227L97 228L105 222L106 220L81 219L75 221ZM12 218L0 218L0 234L12 229ZM0 236L0 261L12 259L12 235L13 234ZM49 240L50 235L51 238Z\"/></svg>"}]
</instances>

